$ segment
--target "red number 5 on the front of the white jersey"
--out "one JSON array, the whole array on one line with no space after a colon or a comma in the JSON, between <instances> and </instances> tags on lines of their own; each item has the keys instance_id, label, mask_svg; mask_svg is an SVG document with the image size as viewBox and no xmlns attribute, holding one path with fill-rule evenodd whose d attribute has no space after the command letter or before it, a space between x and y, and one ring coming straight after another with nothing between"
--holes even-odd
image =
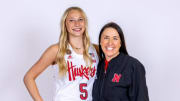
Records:
<instances>
[{"instance_id":1,"label":"red number 5 on the front of the white jersey","mask_svg":"<svg viewBox=\"0 0 180 101\"><path fill-rule=\"evenodd\" d=\"M83 93L83 94L80 94L81 100L86 100L88 97L88 92L84 87L87 87L87 83L81 83L79 85L79 90L81 93Z\"/></svg>"}]
</instances>

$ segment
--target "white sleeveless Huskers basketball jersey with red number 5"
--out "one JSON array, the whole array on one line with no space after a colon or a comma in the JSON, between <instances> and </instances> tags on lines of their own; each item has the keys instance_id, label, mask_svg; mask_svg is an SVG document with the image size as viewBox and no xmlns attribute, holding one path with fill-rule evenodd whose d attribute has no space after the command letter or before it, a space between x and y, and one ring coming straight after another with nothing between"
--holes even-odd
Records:
<instances>
[{"instance_id":1,"label":"white sleeveless Huskers basketball jersey with red number 5","mask_svg":"<svg viewBox=\"0 0 180 101\"><path fill-rule=\"evenodd\" d=\"M93 64L88 67L83 55L77 54L68 45L69 54L65 55L68 71L63 77L59 76L59 67L54 65L55 91L53 101L92 101L92 87L96 75L99 58L96 49L90 45L89 54Z\"/></svg>"}]
</instances>

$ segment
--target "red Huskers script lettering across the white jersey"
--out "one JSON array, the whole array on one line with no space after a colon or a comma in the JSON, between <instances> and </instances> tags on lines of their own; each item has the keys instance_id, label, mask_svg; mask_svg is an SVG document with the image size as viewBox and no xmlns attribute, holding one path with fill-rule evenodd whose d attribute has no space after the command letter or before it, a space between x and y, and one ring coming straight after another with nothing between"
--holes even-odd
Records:
<instances>
[{"instance_id":1,"label":"red Huskers script lettering across the white jersey","mask_svg":"<svg viewBox=\"0 0 180 101\"><path fill-rule=\"evenodd\" d=\"M81 67L77 68L76 65L73 65L72 62L67 61L68 64L68 74L69 74L69 81L75 80L77 76L85 77L89 80L89 77L94 77L96 68L94 67ZM76 67L76 68L75 68Z\"/></svg>"}]
</instances>

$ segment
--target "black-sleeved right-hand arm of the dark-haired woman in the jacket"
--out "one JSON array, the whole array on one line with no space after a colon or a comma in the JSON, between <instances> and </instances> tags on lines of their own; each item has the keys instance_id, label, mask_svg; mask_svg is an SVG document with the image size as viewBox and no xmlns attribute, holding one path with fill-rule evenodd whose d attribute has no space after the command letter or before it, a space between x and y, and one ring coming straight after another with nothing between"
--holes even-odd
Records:
<instances>
[{"instance_id":1,"label":"black-sleeved right-hand arm of the dark-haired woman in the jacket","mask_svg":"<svg viewBox=\"0 0 180 101\"><path fill-rule=\"evenodd\" d=\"M129 88L130 101L149 101L145 68L137 61L133 65L132 85Z\"/></svg>"}]
</instances>

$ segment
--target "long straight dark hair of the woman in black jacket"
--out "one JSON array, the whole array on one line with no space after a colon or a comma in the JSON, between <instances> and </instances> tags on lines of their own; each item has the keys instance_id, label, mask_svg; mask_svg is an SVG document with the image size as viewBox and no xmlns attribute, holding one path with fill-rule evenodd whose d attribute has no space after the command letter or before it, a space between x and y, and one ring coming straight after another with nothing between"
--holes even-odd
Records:
<instances>
[{"instance_id":1,"label":"long straight dark hair of the woman in black jacket","mask_svg":"<svg viewBox=\"0 0 180 101\"><path fill-rule=\"evenodd\" d=\"M110 23L107 23L106 25L104 25L103 28L100 31L100 35L99 35L99 54L100 54L100 59L105 58L105 55L104 55L104 52L102 51L100 42L101 42L101 35L102 35L103 31L106 28L114 28L118 32L120 40L121 40L121 47L119 49L119 52L128 55L128 52L126 50L126 44L125 44L125 39L124 39L124 34L122 32L122 29L120 28L120 26L118 24L116 24L114 22L110 22Z\"/></svg>"}]
</instances>

